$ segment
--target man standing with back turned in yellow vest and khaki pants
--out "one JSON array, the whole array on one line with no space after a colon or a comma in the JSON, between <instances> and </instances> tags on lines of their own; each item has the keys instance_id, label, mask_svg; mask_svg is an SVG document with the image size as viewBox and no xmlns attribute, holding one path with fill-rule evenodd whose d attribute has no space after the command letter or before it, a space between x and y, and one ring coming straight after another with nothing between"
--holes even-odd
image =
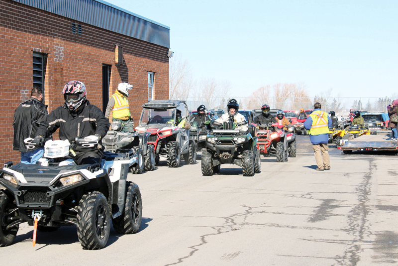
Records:
<instances>
[{"instance_id":1,"label":"man standing with back turned in yellow vest and khaki pants","mask_svg":"<svg viewBox=\"0 0 398 266\"><path fill-rule=\"evenodd\" d=\"M309 139L314 149L314 155L318 168L317 171L329 170L330 160L327 142L329 140L329 127L332 126L332 119L326 112L320 110L320 103L314 104L314 111L304 122L304 128L309 133Z\"/></svg>"}]
</instances>

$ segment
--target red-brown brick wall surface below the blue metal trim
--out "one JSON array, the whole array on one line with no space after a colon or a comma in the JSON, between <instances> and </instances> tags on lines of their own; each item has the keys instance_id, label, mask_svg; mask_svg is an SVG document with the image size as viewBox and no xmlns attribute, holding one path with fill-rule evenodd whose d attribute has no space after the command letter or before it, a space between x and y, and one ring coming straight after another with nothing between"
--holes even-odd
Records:
<instances>
[{"instance_id":1,"label":"red-brown brick wall surface below the blue metal trim","mask_svg":"<svg viewBox=\"0 0 398 266\"><path fill-rule=\"evenodd\" d=\"M72 33L72 22L83 34ZM115 44L123 47L123 63L114 64ZM0 1L0 165L19 162L12 150L13 113L30 96L33 84L32 53L47 54L45 104L51 112L64 103L62 88L80 80L87 98L102 109L102 64L111 66L109 97L117 84L128 82L130 111L139 120L141 105L148 100L148 71L155 73L155 99L169 98L169 59L162 47L34 7Z\"/></svg>"}]
</instances>

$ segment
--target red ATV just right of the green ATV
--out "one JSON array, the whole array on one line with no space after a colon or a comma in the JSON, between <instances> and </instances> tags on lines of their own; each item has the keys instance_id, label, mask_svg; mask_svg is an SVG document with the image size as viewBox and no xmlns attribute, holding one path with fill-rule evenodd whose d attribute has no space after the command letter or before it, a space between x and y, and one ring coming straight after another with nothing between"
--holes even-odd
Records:
<instances>
[{"instance_id":1,"label":"red ATV just right of the green ATV","mask_svg":"<svg viewBox=\"0 0 398 266\"><path fill-rule=\"evenodd\" d=\"M265 157L273 154L277 162L288 161L288 156L296 157L296 135L294 128L288 127L286 132L284 126L279 124L257 125L257 149Z\"/></svg>"}]
</instances>

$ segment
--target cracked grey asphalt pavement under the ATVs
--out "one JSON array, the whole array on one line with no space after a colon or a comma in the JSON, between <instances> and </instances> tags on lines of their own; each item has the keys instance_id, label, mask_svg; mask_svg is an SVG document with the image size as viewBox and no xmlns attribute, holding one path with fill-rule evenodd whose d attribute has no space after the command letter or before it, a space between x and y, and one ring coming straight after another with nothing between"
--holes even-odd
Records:
<instances>
[{"instance_id":1,"label":"cracked grey asphalt pavement under the ATVs","mask_svg":"<svg viewBox=\"0 0 398 266\"><path fill-rule=\"evenodd\" d=\"M20 225L0 248L15 265L370 266L398 263L395 154L343 154L330 146L331 170L316 171L308 136L284 163L262 157L261 173L236 165L202 176L194 165L129 174L142 193L138 233L111 229L107 246L83 250L76 227L38 232Z\"/></svg>"}]
</instances>

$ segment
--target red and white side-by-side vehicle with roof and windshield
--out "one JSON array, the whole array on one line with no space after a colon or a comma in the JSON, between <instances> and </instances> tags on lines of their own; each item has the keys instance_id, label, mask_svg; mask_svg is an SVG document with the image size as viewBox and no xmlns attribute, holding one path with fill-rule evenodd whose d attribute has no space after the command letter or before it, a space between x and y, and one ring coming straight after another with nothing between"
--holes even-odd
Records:
<instances>
[{"instance_id":1,"label":"red and white side-by-side vehicle with roof and windshield","mask_svg":"<svg viewBox=\"0 0 398 266\"><path fill-rule=\"evenodd\" d=\"M185 163L195 164L197 149L190 139L190 131L175 125L177 109L182 117L189 115L186 102L154 100L142 107L139 126L135 129L138 133L149 133L147 143L155 150L155 163L164 156L169 167L179 167L183 155Z\"/></svg>"}]
</instances>

